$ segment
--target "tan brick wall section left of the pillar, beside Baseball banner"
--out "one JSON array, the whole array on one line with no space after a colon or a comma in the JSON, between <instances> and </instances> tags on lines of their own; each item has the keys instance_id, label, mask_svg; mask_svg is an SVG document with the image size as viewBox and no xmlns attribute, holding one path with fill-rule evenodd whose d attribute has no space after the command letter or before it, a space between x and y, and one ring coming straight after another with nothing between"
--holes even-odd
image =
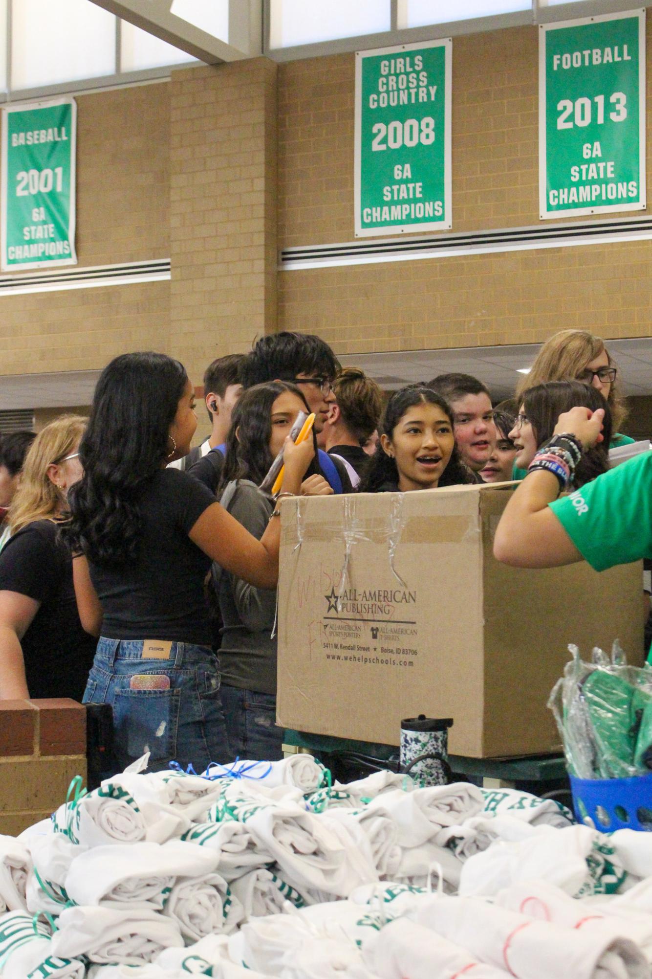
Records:
<instances>
[{"instance_id":1,"label":"tan brick wall section left of the pillar, beside Baseball banner","mask_svg":"<svg viewBox=\"0 0 652 979\"><path fill-rule=\"evenodd\" d=\"M169 256L169 83L77 97L79 266ZM169 282L0 297L0 374L169 347Z\"/></svg>"}]
</instances>

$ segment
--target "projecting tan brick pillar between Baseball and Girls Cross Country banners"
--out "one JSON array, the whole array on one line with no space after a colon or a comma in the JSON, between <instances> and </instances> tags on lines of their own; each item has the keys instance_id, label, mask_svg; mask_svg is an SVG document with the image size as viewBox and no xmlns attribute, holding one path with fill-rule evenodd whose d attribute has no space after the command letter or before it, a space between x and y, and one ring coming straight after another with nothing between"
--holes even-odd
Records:
<instances>
[{"instance_id":1,"label":"projecting tan brick pillar between Baseball and Girls Cross Country banners","mask_svg":"<svg viewBox=\"0 0 652 979\"><path fill-rule=\"evenodd\" d=\"M276 65L178 70L171 82L171 352L198 384L276 328Z\"/></svg>"}]
</instances>

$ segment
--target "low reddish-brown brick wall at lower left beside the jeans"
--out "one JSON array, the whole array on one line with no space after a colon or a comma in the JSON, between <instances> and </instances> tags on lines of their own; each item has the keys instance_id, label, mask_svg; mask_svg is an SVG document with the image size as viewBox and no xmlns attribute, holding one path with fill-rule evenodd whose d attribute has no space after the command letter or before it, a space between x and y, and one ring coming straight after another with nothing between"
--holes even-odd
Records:
<instances>
[{"instance_id":1,"label":"low reddish-brown brick wall at lower left beside the jeans","mask_svg":"<svg viewBox=\"0 0 652 979\"><path fill-rule=\"evenodd\" d=\"M0 833L18 835L86 778L86 709L67 698L0 701Z\"/></svg>"}]
</instances>

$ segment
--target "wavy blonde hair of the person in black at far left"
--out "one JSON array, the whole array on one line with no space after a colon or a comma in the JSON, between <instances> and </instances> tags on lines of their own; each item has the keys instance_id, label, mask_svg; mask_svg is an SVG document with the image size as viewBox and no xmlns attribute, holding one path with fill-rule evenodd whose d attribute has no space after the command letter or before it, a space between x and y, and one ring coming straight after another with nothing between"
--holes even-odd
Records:
<instances>
[{"instance_id":1,"label":"wavy blonde hair of the person in black at far left","mask_svg":"<svg viewBox=\"0 0 652 979\"><path fill-rule=\"evenodd\" d=\"M62 415L42 429L29 448L21 482L9 510L9 526L17 534L34 520L54 520L61 504L61 490L48 476L48 466L61 462L79 443L87 419Z\"/></svg>"}]
</instances>

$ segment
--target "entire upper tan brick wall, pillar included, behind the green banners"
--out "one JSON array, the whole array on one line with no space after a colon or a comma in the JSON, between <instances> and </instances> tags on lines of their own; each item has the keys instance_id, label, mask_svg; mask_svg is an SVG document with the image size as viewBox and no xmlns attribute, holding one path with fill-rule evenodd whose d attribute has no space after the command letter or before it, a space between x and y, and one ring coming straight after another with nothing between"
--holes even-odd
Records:
<instances>
[{"instance_id":1,"label":"entire upper tan brick wall, pillar included, behind the green banners","mask_svg":"<svg viewBox=\"0 0 652 979\"><path fill-rule=\"evenodd\" d=\"M538 224L537 30L453 51L453 230ZM169 255L172 282L0 298L2 374L154 349L199 385L215 356L276 329L343 355L651 332L649 242L277 274L277 245L353 240L353 54L176 70L78 101L80 265Z\"/></svg>"}]
</instances>

